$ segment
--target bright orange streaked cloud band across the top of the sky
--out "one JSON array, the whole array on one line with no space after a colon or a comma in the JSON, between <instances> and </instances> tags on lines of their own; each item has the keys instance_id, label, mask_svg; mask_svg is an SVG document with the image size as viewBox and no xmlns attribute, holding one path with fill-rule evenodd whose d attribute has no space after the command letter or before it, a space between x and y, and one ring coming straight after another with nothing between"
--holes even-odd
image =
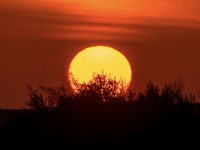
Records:
<instances>
[{"instance_id":1,"label":"bright orange streaked cloud band across the top of the sky","mask_svg":"<svg viewBox=\"0 0 200 150\"><path fill-rule=\"evenodd\" d=\"M124 37L151 34L138 25L199 28L200 24L197 0L19 0L0 4L4 36L99 40L105 38L103 32L109 33L110 40L131 40Z\"/></svg>"}]
</instances>

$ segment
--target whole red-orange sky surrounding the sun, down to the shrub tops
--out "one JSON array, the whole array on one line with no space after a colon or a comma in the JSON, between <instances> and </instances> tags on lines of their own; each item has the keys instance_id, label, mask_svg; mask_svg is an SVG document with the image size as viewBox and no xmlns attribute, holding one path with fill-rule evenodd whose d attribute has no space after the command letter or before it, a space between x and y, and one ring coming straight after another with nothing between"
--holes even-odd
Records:
<instances>
[{"instance_id":1,"label":"whole red-orange sky surrounding the sun, down to the shrub tops","mask_svg":"<svg viewBox=\"0 0 200 150\"><path fill-rule=\"evenodd\" d=\"M110 46L130 62L135 85L182 78L200 89L199 0L0 1L0 108L21 108L26 85L60 86L61 65Z\"/></svg>"}]
</instances>

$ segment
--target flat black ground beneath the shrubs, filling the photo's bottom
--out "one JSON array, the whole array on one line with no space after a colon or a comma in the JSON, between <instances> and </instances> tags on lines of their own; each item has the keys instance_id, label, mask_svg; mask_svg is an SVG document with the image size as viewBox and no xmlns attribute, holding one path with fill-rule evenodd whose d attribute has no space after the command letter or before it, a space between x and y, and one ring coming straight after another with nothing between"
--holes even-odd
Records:
<instances>
[{"instance_id":1,"label":"flat black ground beneath the shrubs, filling the photo's bottom","mask_svg":"<svg viewBox=\"0 0 200 150\"><path fill-rule=\"evenodd\" d=\"M7 149L195 149L200 105L69 103L48 111L0 110Z\"/></svg>"}]
</instances>

